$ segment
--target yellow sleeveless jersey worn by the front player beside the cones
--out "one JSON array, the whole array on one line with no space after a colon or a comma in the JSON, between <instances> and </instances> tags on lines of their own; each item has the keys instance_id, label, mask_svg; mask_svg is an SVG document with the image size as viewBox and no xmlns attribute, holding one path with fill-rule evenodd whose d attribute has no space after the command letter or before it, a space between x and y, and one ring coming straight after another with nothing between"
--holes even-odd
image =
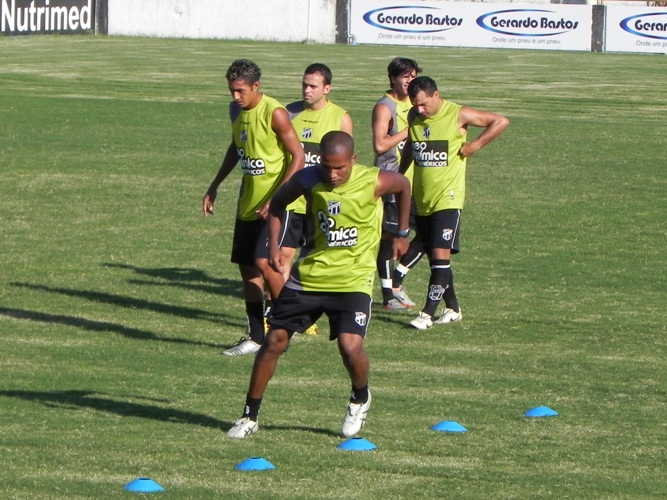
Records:
<instances>
[{"instance_id":1,"label":"yellow sleeveless jersey worn by the front player beside the cones","mask_svg":"<svg viewBox=\"0 0 667 500\"><path fill-rule=\"evenodd\" d=\"M320 168L299 172L314 237L301 249L285 286L372 296L382 231L382 202L375 199L379 173L375 167L354 165L350 179L331 188Z\"/></svg>"}]
</instances>

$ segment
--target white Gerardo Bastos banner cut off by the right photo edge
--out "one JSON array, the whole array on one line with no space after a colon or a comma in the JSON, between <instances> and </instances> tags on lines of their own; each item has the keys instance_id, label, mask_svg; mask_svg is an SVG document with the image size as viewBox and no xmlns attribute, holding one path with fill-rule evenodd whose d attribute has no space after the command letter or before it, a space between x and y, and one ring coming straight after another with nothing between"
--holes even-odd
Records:
<instances>
[{"instance_id":1,"label":"white Gerardo Bastos banner cut off by the right photo edge","mask_svg":"<svg viewBox=\"0 0 667 500\"><path fill-rule=\"evenodd\" d=\"M605 51L667 54L667 8L608 5Z\"/></svg>"}]
</instances>

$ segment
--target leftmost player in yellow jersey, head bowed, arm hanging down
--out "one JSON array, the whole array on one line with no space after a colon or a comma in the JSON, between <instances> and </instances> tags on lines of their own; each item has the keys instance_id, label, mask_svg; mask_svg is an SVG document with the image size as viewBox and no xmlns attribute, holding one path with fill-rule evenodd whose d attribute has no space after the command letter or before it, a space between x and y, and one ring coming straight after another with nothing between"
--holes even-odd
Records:
<instances>
[{"instance_id":1,"label":"leftmost player in yellow jersey, head bowed, arm hanging down","mask_svg":"<svg viewBox=\"0 0 667 500\"><path fill-rule=\"evenodd\" d=\"M254 354L264 340L264 283L272 298L284 277L268 261L267 215L271 196L294 172L303 168L305 155L287 110L260 91L261 71L252 61L238 59L227 70L233 102L229 105L232 141L220 169L206 191L204 215L212 215L218 187L237 164L242 184L236 206L231 261L243 280L248 338L223 352L228 356Z\"/></svg>"}]
</instances>

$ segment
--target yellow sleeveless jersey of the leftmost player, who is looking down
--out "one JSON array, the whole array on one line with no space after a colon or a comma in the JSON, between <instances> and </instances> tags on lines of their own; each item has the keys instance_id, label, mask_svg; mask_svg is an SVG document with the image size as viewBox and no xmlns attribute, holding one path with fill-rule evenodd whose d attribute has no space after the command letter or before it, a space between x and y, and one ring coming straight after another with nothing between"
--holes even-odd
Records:
<instances>
[{"instance_id":1,"label":"yellow sleeveless jersey of the leftmost player, who is looking down","mask_svg":"<svg viewBox=\"0 0 667 500\"><path fill-rule=\"evenodd\" d=\"M267 95L262 95L259 104L250 110L235 102L229 105L232 137L243 171L236 214L241 220L257 219L255 212L280 187L288 165L289 154L271 128L276 108L284 109Z\"/></svg>"}]
</instances>

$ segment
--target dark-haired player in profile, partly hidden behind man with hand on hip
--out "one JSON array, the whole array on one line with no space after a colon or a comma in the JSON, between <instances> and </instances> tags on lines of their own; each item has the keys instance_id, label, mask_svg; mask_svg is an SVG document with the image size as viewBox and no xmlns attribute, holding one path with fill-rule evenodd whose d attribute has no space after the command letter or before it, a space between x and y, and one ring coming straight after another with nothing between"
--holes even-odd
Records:
<instances>
[{"instance_id":1,"label":"dark-haired player in profile, partly hidden behind man with hand on hip","mask_svg":"<svg viewBox=\"0 0 667 500\"><path fill-rule=\"evenodd\" d=\"M408 85L421 72L417 61L406 57L396 57L387 66L390 88L375 104L372 117L373 150L378 168L398 172L401 152L408 136L408 112L412 108ZM406 172L406 176L412 179L412 169ZM412 308L415 303L403 289L403 278L424 255L421 241L413 238L407 253L394 268L391 248L398 226L396 203L391 195L385 197L383 207L382 241L377 256L382 307L388 311ZM410 227L414 229L414 217L411 217Z\"/></svg>"}]
</instances>

